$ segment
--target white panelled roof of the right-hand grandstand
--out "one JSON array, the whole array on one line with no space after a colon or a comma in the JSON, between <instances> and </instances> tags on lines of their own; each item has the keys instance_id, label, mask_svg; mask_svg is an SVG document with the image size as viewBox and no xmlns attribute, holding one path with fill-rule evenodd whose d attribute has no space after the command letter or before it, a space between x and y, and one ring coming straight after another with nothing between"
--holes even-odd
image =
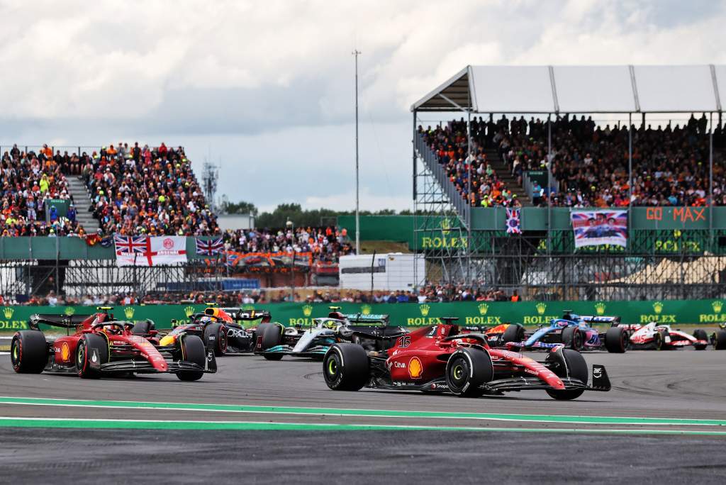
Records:
<instances>
[{"instance_id":1,"label":"white panelled roof of the right-hand grandstand","mask_svg":"<svg viewBox=\"0 0 726 485\"><path fill-rule=\"evenodd\" d=\"M719 112L726 65L467 66L412 105L473 113Z\"/></svg>"}]
</instances>

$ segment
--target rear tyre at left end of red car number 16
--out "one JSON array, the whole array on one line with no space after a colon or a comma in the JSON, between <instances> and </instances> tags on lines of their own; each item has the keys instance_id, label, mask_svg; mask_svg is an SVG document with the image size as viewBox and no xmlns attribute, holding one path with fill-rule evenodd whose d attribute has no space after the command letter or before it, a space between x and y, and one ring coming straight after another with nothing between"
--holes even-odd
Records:
<instances>
[{"instance_id":1,"label":"rear tyre at left end of red car number 16","mask_svg":"<svg viewBox=\"0 0 726 485\"><path fill-rule=\"evenodd\" d=\"M333 391L359 391L368 383L368 353L355 343L335 343L322 359L325 383Z\"/></svg>"}]
</instances>

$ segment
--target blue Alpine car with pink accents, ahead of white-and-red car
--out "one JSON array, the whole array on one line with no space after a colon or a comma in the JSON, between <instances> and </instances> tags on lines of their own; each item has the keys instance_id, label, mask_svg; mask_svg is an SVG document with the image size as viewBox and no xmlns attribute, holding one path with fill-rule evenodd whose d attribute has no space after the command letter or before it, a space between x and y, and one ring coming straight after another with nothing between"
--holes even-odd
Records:
<instances>
[{"instance_id":1,"label":"blue Alpine car with pink accents, ahead of white-and-red car","mask_svg":"<svg viewBox=\"0 0 726 485\"><path fill-rule=\"evenodd\" d=\"M609 323L611 326L600 332L593 324ZM526 333L520 342L507 342L513 349L536 350L566 347L576 351L601 350L622 354L628 346L628 334L619 327L620 317L577 315L566 311L562 318L550 320L550 325L539 327L534 333Z\"/></svg>"}]
</instances>

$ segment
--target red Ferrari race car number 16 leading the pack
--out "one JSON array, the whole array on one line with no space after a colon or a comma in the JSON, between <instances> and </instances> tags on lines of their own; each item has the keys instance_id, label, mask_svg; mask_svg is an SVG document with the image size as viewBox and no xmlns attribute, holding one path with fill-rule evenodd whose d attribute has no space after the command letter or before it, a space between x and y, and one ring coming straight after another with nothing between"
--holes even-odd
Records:
<instances>
[{"instance_id":1,"label":"red Ferrari race car number 16 leading the pack","mask_svg":"<svg viewBox=\"0 0 726 485\"><path fill-rule=\"evenodd\" d=\"M335 391L361 388L449 392L478 397L505 391L544 389L554 399L575 399L584 391L610 391L602 365L587 364L579 352L558 346L544 362L504 349L492 349L486 335L459 333L456 318L399 335L391 349L366 351L335 343L323 359L327 386Z\"/></svg>"}]
</instances>

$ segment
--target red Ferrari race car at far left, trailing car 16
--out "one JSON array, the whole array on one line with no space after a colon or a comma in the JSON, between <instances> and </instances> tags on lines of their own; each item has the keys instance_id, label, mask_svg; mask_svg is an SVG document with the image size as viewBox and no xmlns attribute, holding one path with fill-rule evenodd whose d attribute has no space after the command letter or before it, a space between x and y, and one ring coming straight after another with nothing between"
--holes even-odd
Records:
<instances>
[{"instance_id":1,"label":"red Ferrari race car at far left, trailing car 16","mask_svg":"<svg viewBox=\"0 0 726 485\"><path fill-rule=\"evenodd\" d=\"M97 314L73 317L30 317L28 324L32 330L15 333L10 344L15 372L56 372L78 374L81 378L166 372L181 380L198 380L205 372L216 372L214 352L205 350L197 335L181 335L176 345L162 348L135 335L131 322L115 321L109 307L99 310ZM50 341L39 324L65 328L68 335ZM75 330L72 335L71 329Z\"/></svg>"}]
</instances>

